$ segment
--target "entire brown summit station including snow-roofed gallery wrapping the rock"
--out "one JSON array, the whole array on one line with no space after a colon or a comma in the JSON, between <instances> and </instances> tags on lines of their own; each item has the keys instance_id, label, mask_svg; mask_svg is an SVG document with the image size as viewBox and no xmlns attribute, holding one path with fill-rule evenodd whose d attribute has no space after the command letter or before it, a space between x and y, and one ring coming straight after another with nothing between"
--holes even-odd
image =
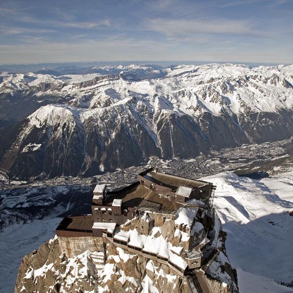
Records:
<instances>
[{"instance_id":1,"label":"entire brown summit station including snow-roofed gallery wrapping the rock","mask_svg":"<svg viewBox=\"0 0 293 293\"><path fill-rule=\"evenodd\" d=\"M56 229L59 237L99 237L130 252L167 264L172 270L183 275L189 269L203 265L201 249L209 243L209 212L215 187L205 181L192 180L159 172L152 168L138 174L137 182L119 190L109 191L105 184L93 190L92 214L66 217ZM178 215L188 208L192 221L187 223ZM124 230L127 221L140 219L140 232L148 232L156 225L173 220L174 227L188 237L180 247L169 252L172 257L161 255L147 247L147 243L135 243ZM181 218L181 219L180 219ZM158 220L159 219L159 220ZM82 238L84 239L84 238ZM176 261L174 260L176 259ZM181 266L178 266L178 260Z\"/></svg>"}]
</instances>

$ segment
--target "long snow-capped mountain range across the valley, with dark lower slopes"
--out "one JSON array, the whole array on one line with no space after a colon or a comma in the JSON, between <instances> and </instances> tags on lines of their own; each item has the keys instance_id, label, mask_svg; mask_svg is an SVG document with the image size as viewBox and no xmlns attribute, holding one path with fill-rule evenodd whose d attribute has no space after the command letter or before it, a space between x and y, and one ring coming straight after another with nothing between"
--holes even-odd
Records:
<instances>
[{"instance_id":1,"label":"long snow-capped mountain range across the valley, with dark lower slopes","mask_svg":"<svg viewBox=\"0 0 293 293\"><path fill-rule=\"evenodd\" d=\"M9 137L2 130L0 167L20 177L92 175L152 155L191 158L293 134L293 65L107 70L110 75L3 74L2 119L15 103L23 107L14 112L30 115ZM26 104L37 110L31 114Z\"/></svg>"}]
</instances>

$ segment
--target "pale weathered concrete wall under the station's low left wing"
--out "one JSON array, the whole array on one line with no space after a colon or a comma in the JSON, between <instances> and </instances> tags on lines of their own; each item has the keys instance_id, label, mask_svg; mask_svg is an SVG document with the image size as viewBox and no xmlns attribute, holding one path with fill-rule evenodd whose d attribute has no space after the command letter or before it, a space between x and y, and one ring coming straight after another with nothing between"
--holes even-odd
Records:
<instances>
[{"instance_id":1,"label":"pale weathered concrete wall under the station's low left wing","mask_svg":"<svg viewBox=\"0 0 293 293\"><path fill-rule=\"evenodd\" d=\"M73 257L86 250L104 251L102 237L58 237L60 250L67 257Z\"/></svg>"}]
</instances>

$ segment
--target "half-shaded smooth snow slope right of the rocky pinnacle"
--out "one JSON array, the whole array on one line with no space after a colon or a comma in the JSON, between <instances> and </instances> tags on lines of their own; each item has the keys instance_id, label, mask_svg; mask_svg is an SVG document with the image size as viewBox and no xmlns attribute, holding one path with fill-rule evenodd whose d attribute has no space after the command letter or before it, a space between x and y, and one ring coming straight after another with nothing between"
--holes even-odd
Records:
<instances>
[{"instance_id":1,"label":"half-shaded smooth snow slope right of the rocky pinnacle","mask_svg":"<svg viewBox=\"0 0 293 293\"><path fill-rule=\"evenodd\" d=\"M292 172L261 180L231 172L202 179L217 186L214 208L227 232L229 260L238 267L240 292L292 292L266 279L293 281Z\"/></svg>"}]
</instances>

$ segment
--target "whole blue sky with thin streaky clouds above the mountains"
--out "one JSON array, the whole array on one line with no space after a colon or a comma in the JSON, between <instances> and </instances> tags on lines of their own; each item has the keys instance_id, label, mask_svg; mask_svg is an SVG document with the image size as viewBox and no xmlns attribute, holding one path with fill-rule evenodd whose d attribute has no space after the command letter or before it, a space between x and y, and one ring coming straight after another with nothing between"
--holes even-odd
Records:
<instances>
[{"instance_id":1,"label":"whole blue sky with thin streaky clouds above the mountains","mask_svg":"<svg viewBox=\"0 0 293 293\"><path fill-rule=\"evenodd\" d=\"M0 64L293 63L293 0L0 0Z\"/></svg>"}]
</instances>

